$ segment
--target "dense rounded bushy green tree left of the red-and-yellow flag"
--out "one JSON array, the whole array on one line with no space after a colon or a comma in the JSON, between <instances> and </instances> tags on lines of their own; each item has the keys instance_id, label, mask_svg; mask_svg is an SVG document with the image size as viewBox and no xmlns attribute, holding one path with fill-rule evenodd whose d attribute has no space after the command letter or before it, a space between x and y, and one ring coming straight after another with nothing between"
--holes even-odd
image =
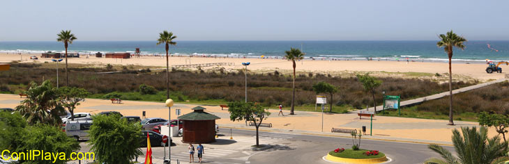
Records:
<instances>
[{"instance_id":1,"label":"dense rounded bushy green tree left of the red-and-yellow flag","mask_svg":"<svg viewBox=\"0 0 509 164\"><path fill-rule=\"evenodd\" d=\"M130 163L143 155L139 149L142 126L132 124L120 115L93 115L89 145L99 163Z\"/></svg>"}]
</instances>

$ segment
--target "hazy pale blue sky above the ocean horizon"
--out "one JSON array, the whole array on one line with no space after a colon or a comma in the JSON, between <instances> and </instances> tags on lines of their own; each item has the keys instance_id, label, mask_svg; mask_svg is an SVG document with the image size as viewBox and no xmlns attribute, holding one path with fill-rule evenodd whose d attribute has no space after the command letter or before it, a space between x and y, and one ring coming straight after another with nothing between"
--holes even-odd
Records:
<instances>
[{"instance_id":1,"label":"hazy pale blue sky above the ocean horizon","mask_svg":"<svg viewBox=\"0 0 509 164\"><path fill-rule=\"evenodd\" d=\"M509 40L499 0L4 0L0 41L55 40Z\"/></svg>"}]
</instances>

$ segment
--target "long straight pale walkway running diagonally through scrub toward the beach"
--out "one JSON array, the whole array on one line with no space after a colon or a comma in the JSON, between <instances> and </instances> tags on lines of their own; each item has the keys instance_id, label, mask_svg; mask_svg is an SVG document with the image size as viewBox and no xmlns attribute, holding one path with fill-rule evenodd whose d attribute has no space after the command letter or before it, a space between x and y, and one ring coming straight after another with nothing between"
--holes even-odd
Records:
<instances>
[{"instance_id":1,"label":"long straight pale walkway running diagonally through scrub toward the beach","mask_svg":"<svg viewBox=\"0 0 509 164\"><path fill-rule=\"evenodd\" d=\"M487 85L492 85L492 84L495 84L495 83L501 83L501 82L507 81L507 80L508 79L499 79L499 80L496 80L496 81L489 81L489 82L486 82L486 83L480 83L480 84L471 85L471 86L464 87L464 88L459 88L459 89L453 90L453 95L461 93L461 92L466 92L466 91L469 91L469 90L475 90L475 89L478 89L478 88L483 88L483 87L485 87ZM439 94L430 95L430 96L427 96L427 97L420 97L420 98L417 98L417 99L410 99L410 100L407 100L407 101L401 101L400 102L400 107L410 106L410 105L413 105L413 104L419 104L419 103L422 103L424 101L430 101L432 99L440 99L440 98L446 97L448 95L449 95L449 91L441 92ZM363 109L363 110L356 110L356 111L354 111L354 113L359 113L360 111L365 111L365 110L370 110L370 109L371 109L371 111L374 111L374 108L367 108L367 109ZM377 111L381 111L381 110L383 110L383 107L382 106L377 106Z\"/></svg>"}]
</instances>

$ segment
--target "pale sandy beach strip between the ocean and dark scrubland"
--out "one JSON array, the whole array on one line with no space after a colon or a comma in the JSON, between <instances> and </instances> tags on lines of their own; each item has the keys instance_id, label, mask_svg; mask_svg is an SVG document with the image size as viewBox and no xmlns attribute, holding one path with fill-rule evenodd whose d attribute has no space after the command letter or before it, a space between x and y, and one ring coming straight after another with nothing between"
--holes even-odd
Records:
<instances>
[{"instance_id":1,"label":"pale sandy beach strip between the ocean and dark scrubland","mask_svg":"<svg viewBox=\"0 0 509 164\"><path fill-rule=\"evenodd\" d=\"M445 55L445 54L444 54ZM8 63L13 60L23 59L22 62L33 62L29 56L37 56L36 62L44 63L52 62L51 58L40 58L40 54L6 54L0 53L0 63ZM96 58L82 54L80 58L68 58L69 63L80 63L89 65L143 65L165 67L166 60L160 56L142 56L140 58L116 59L116 58ZM271 58L204 58L204 57L170 57L169 65L186 65L186 64L202 64L202 63L234 63L234 65L222 65L225 69L243 69L243 62L250 62L248 69L251 72L289 72L292 69L290 61L283 59ZM487 65L485 64L466 64L453 63L453 75L468 76L480 81L490 79L504 78L504 74L485 72ZM501 65L504 72L509 71L509 66ZM212 67L203 67L209 69ZM303 60L296 65L297 72L314 72L322 74L334 74L335 72L349 72L356 74L358 72L422 72L430 74L445 74L448 72L448 63L427 63L427 62L409 62L407 61L378 61L378 60Z\"/></svg>"}]
</instances>

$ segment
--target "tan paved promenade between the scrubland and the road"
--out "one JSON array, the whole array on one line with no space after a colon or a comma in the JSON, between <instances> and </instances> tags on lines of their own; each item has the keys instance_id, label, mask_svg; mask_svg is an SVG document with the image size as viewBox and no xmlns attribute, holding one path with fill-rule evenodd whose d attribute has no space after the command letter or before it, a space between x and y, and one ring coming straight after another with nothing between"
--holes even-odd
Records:
<instances>
[{"instance_id":1,"label":"tan paved promenade between the scrubland and the road","mask_svg":"<svg viewBox=\"0 0 509 164\"><path fill-rule=\"evenodd\" d=\"M0 94L0 107L14 108L24 99L19 95ZM176 119L175 109L181 109L181 115L192 112L190 108L198 105L194 104L175 104L170 112L172 119ZM219 106L204 106L205 111L221 117L216 120L216 124L235 128L247 128L245 122L232 122L229 120L227 110L221 110ZM99 113L101 111L116 110L123 115L135 115L142 117L142 111L146 111L146 117L162 117L168 119L168 108L164 103L147 101L123 101L123 104L112 104L109 100L86 99L80 106L77 106L75 113L88 112ZM324 113L324 128L321 132L322 113L295 111L296 115L289 115L289 110L283 110L285 116L278 116L279 110L269 110L272 114L268 116L264 123L271 123L272 128L261 128L281 133L313 133L319 135L347 136L349 134L331 133L332 128L357 129L360 131L362 126L366 126L367 133L370 133L370 119L363 117L359 119L356 113L331 114ZM373 117L373 136L366 138L377 138L384 140L402 140L418 142L450 143L453 135L453 129L459 129L461 126L476 126L477 122L455 121L455 126L448 126L448 120L427 120L405 117L386 117L375 115ZM489 129L489 136L496 136L498 133L494 128Z\"/></svg>"}]
</instances>

